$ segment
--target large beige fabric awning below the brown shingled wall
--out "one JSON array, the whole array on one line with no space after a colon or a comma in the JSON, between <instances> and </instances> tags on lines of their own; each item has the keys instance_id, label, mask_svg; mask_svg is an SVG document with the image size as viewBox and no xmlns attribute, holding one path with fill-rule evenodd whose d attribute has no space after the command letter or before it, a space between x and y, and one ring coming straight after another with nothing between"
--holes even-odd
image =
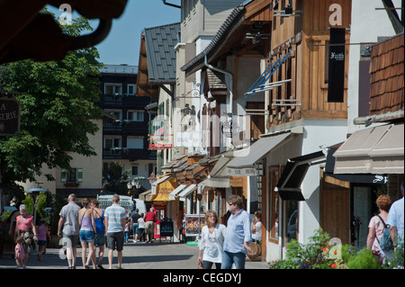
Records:
<instances>
[{"instance_id":1,"label":"large beige fabric awning below the brown shingled wall","mask_svg":"<svg viewBox=\"0 0 405 287\"><path fill-rule=\"evenodd\" d=\"M356 131L334 153L334 174L403 174L404 125Z\"/></svg>"}]
</instances>

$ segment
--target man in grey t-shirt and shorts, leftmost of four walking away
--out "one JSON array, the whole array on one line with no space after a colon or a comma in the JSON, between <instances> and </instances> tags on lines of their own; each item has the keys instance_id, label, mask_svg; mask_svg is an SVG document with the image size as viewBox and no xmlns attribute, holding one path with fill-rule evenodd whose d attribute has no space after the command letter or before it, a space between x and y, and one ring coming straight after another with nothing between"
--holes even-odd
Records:
<instances>
[{"instance_id":1,"label":"man in grey t-shirt and shorts, leftmost of four walking away","mask_svg":"<svg viewBox=\"0 0 405 287\"><path fill-rule=\"evenodd\" d=\"M80 232L78 224L78 211L76 194L67 197L67 205L59 212L58 237L63 238L63 247L66 248L68 269L76 269L77 244Z\"/></svg>"}]
</instances>

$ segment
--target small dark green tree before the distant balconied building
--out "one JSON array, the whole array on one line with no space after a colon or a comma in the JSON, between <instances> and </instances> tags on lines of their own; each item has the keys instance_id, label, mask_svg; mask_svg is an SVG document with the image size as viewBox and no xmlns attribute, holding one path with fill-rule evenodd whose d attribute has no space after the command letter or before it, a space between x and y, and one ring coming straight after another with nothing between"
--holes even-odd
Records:
<instances>
[{"instance_id":1,"label":"small dark green tree before the distant balconied building","mask_svg":"<svg viewBox=\"0 0 405 287\"><path fill-rule=\"evenodd\" d=\"M112 162L103 176L104 188L112 193L125 195L128 193L128 171L123 171L121 163Z\"/></svg>"}]
</instances>

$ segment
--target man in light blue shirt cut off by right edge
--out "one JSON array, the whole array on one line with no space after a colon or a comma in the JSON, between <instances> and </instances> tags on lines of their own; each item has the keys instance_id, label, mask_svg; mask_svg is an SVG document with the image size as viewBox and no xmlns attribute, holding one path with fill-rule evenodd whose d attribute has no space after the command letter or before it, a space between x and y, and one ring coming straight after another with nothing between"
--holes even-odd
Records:
<instances>
[{"instance_id":1,"label":"man in light blue shirt cut off by right edge","mask_svg":"<svg viewBox=\"0 0 405 287\"><path fill-rule=\"evenodd\" d=\"M388 212L387 225L390 226L390 233L394 247L397 246L397 241L403 242L403 182L401 183L402 197L392 203L391 209Z\"/></svg>"}]
</instances>

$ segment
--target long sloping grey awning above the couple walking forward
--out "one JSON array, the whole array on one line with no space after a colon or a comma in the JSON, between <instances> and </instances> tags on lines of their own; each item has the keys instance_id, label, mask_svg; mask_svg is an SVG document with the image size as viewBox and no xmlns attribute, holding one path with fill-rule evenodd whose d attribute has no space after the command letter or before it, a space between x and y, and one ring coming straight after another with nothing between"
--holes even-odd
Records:
<instances>
[{"instance_id":1,"label":"long sloping grey awning above the couple walking forward","mask_svg":"<svg viewBox=\"0 0 405 287\"><path fill-rule=\"evenodd\" d=\"M291 132L286 132L275 136L261 138L249 148L236 151L234 153L235 158L233 158L228 164L227 175L257 175L255 164L263 157L266 157L270 152L274 151L275 148L279 148L290 139L293 139L293 137L290 137L291 134ZM238 157L238 155L241 156Z\"/></svg>"}]
</instances>

